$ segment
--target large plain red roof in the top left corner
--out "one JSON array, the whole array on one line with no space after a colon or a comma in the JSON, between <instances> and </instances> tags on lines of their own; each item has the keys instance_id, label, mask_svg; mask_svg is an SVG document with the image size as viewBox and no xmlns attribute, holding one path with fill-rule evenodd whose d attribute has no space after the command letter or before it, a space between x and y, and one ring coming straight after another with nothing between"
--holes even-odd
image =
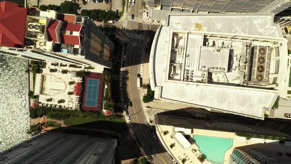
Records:
<instances>
[{"instance_id":1,"label":"large plain red roof in the top left corner","mask_svg":"<svg viewBox=\"0 0 291 164\"><path fill-rule=\"evenodd\" d=\"M9 1L0 2L0 45L24 45L27 8L18 6Z\"/></svg>"}]
</instances>

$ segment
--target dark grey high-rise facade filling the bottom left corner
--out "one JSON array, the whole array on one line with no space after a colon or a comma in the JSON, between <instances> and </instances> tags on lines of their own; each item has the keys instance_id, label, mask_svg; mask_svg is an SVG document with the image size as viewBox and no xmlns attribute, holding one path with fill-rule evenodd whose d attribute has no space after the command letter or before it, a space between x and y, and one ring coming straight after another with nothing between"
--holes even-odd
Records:
<instances>
[{"instance_id":1,"label":"dark grey high-rise facade filling the bottom left corner","mask_svg":"<svg viewBox=\"0 0 291 164\"><path fill-rule=\"evenodd\" d=\"M113 164L116 139L49 131L0 153L0 164Z\"/></svg>"}]
</instances>

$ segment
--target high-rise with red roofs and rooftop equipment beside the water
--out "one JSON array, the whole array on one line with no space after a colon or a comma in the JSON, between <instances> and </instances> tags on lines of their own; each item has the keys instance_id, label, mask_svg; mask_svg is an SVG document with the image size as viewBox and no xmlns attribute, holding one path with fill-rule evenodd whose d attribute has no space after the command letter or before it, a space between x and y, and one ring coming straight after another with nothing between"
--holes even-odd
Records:
<instances>
[{"instance_id":1,"label":"high-rise with red roofs and rooftop equipment beside the water","mask_svg":"<svg viewBox=\"0 0 291 164\"><path fill-rule=\"evenodd\" d=\"M0 2L0 54L110 68L113 49L89 17Z\"/></svg>"}]
</instances>

